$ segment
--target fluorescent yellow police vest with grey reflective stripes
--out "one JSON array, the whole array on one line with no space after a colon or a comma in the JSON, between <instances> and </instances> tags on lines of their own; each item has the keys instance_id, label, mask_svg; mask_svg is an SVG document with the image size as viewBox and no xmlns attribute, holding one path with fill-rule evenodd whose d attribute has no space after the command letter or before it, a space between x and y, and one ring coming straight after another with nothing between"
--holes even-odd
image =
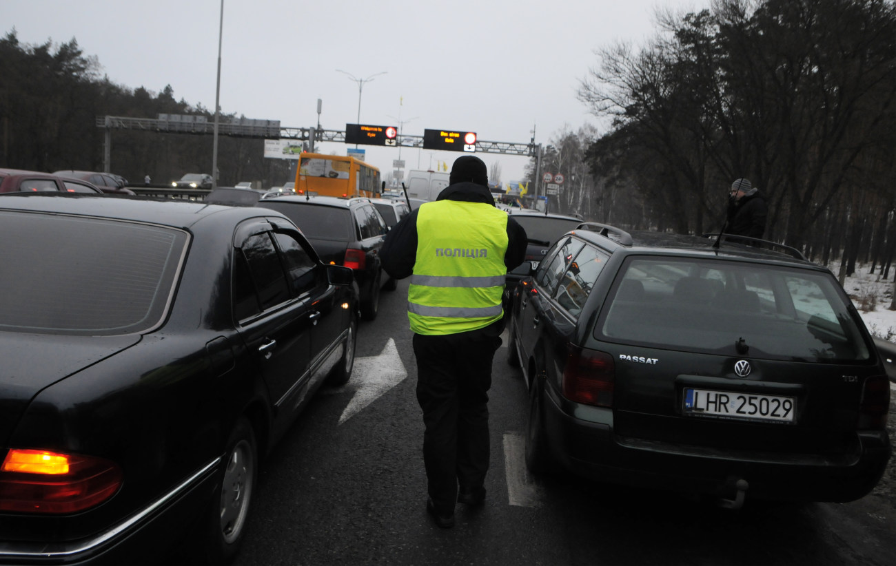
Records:
<instances>
[{"instance_id":1,"label":"fluorescent yellow police vest with grey reflective stripes","mask_svg":"<svg viewBox=\"0 0 896 566\"><path fill-rule=\"evenodd\" d=\"M408 319L418 334L485 328L504 316L507 213L485 202L420 206Z\"/></svg>"}]
</instances>

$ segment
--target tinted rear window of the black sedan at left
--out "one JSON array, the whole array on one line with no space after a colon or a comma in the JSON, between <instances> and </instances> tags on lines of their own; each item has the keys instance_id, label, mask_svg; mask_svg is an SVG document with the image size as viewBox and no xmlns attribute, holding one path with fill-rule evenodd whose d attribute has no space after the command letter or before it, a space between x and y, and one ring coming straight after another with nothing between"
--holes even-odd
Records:
<instances>
[{"instance_id":1,"label":"tinted rear window of the black sedan at left","mask_svg":"<svg viewBox=\"0 0 896 566\"><path fill-rule=\"evenodd\" d=\"M188 236L112 219L0 210L0 330L108 336L165 315Z\"/></svg>"}]
</instances>

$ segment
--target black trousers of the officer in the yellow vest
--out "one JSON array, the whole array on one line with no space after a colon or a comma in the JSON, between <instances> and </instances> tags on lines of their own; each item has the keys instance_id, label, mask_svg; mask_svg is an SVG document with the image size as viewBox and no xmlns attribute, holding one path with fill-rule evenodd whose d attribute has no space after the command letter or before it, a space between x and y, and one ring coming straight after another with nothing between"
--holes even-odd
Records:
<instances>
[{"instance_id":1,"label":"black trousers of the officer in the yellow vest","mask_svg":"<svg viewBox=\"0 0 896 566\"><path fill-rule=\"evenodd\" d=\"M488 389L504 323L444 336L414 335L417 400L423 409L423 461L435 509L452 513L461 487L488 471Z\"/></svg>"}]
</instances>

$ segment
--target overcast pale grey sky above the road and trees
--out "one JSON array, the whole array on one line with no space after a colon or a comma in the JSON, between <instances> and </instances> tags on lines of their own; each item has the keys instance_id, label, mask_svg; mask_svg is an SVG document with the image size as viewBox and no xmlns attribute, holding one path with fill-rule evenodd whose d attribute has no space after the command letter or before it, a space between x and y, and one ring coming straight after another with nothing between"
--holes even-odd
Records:
<instances>
[{"instance_id":1,"label":"overcast pale grey sky above the road and trees","mask_svg":"<svg viewBox=\"0 0 896 566\"><path fill-rule=\"evenodd\" d=\"M475 131L489 142L547 141L568 124L597 124L576 99L594 50L640 45L655 11L693 11L710 0L224 0L220 106L224 113L324 129L360 123ZM0 0L3 33L23 43L78 40L111 81L214 108L220 0ZM148 116L155 117L155 116ZM318 150L345 155L344 143ZM360 146L383 173L398 150ZM499 161L504 182L524 157ZM407 168L461 153L404 148ZM113 164L114 168L114 164ZM209 157L211 169L211 156ZM211 172L211 171L210 171Z\"/></svg>"}]
</instances>

